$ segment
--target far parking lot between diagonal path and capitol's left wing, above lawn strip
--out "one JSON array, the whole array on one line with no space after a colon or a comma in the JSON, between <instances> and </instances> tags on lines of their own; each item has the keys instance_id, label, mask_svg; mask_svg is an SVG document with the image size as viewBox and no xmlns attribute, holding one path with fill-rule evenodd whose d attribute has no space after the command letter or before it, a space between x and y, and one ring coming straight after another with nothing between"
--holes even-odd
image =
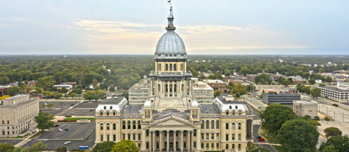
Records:
<instances>
[{"instance_id":1,"label":"far parking lot between diagonal path and capitol's left wing, above lawn strip","mask_svg":"<svg viewBox=\"0 0 349 152\"><path fill-rule=\"evenodd\" d=\"M100 102L84 101L77 106L68 109L63 112L60 116L67 116L73 113L73 116L95 116L95 108Z\"/></svg>"}]
</instances>

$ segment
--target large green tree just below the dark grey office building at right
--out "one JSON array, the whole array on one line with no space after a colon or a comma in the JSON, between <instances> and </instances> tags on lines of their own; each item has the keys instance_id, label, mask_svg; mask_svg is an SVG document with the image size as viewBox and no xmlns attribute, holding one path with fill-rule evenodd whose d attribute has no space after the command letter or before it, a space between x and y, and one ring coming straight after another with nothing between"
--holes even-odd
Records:
<instances>
[{"instance_id":1,"label":"large green tree just below the dark grey office building at right","mask_svg":"<svg viewBox=\"0 0 349 152\"><path fill-rule=\"evenodd\" d=\"M297 118L290 107L279 103L271 103L265 110L260 112L259 116L262 121L262 126L276 134L287 120Z\"/></svg>"}]
</instances>

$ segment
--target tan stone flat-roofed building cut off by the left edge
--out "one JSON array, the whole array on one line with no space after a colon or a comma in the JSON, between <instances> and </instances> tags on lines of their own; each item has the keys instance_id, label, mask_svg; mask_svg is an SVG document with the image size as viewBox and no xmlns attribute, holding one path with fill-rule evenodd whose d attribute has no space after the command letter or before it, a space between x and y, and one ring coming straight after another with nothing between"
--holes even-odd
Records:
<instances>
[{"instance_id":1,"label":"tan stone flat-roofed building cut off by the left edge","mask_svg":"<svg viewBox=\"0 0 349 152\"><path fill-rule=\"evenodd\" d=\"M36 125L34 117L39 113L38 98L17 95L1 100L0 137L16 137Z\"/></svg>"}]
</instances>

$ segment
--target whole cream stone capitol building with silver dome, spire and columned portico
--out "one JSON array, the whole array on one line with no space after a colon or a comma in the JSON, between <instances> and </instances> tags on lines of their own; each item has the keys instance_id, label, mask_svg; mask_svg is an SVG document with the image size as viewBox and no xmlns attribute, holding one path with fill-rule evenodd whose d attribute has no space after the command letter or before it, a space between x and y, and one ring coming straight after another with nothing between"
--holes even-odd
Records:
<instances>
[{"instance_id":1,"label":"whole cream stone capitol building with silver dome, spire and columned portico","mask_svg":"<svg viewBox=\"0 0 349 152\"><path fill-rule=\"evenodd\" d=\"M172 6L167 32L156 46L155 70L134 84L129 99L112 97L96 108L96 143L132 140L141 152L246 152L254 112L232 96L213 96L187 70Z\"/></svg>"}]
</instances>

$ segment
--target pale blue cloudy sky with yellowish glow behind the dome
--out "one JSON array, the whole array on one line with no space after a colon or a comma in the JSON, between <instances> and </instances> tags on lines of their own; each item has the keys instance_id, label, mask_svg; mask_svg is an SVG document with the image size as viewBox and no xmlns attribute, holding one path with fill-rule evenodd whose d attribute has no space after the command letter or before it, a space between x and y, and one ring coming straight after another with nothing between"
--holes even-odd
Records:
<instances>
[{"instance_id":1,"label":"pale blue cloudy sky with yellowish glow behind the dome","mask_svg":"<svg viewBox=\"0 0 349 152\"><path fill-rule=\"evenodd\" d=\"M349 54L349 0L172 0L188 54ZM0 54L153 54L167 0L1 0Z\"/></svg>"}]
</instances>

